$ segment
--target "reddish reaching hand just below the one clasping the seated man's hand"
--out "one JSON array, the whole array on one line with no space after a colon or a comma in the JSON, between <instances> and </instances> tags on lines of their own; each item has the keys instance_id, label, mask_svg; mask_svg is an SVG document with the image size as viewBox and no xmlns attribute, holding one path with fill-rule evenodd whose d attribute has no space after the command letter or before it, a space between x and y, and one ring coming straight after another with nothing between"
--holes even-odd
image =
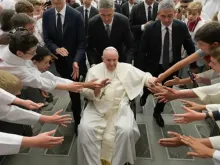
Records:
<instances>
[{"instance_id":1,"label":"reddish reaching hand just below the one clasping the seated man's hand","mask_svg":"<svg viewBox=\"0 0 220 165\"><path fill-rule=\"evenodd\" d=\"M168 101L177 99L177 90L169 87L163 87L163 89L164 90L162 92L154 94L156 98L159 99L160 103L166 103Z\"/></svg>"}]
</instances>

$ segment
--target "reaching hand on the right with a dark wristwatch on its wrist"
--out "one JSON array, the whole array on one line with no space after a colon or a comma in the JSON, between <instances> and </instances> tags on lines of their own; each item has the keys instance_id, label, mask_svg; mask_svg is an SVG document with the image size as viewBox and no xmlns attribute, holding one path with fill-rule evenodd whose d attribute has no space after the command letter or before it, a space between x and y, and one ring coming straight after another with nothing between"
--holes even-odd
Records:
<instances>
[{"instance_id":1,"label":"reaching hand on the right with a dark wristwatch on its wrist","mask_svg":"<svg viewBox=\"0 0 220 165\"><path fill-rule=\"evenodd\" d=\"M183 110L186 112L184 114L174 114L173 116L178 117L175 118L174 121L176 123L183 123L187 124L193 121L197 120L203 120L205 119L205 113L196 112L194 110L191 110L185 106L183 106Z\"/></svg>"}]
</instances>

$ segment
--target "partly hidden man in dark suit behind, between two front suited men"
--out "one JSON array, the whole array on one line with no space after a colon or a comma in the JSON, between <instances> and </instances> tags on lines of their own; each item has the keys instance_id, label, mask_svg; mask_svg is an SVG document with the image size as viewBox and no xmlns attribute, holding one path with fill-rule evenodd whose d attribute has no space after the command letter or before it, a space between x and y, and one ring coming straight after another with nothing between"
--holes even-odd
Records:
<instances>
[{"instance_id":1,"label":"partly hidden man in dark suit behind, between two front suited men","mask_svg":"<svg viewBox=\"0 0 220 165\"><path fill-rule=\"evenodd\" d=\"M98 10L91 5L92 0L83 0L83 6L77 7L82 17L84 18L85 31L87 35L89 19L98 14Z\"/></svg>"}]
</instances>

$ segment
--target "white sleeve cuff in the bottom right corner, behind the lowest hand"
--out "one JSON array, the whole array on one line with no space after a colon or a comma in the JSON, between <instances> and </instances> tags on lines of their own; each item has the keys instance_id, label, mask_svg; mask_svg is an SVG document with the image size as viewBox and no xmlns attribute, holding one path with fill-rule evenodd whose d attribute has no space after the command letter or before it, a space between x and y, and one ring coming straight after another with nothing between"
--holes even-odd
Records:
<instances>
[{"instance_id":1,"label":"white sleeve cuff in the bottom right corner, behind the lowest hand","mask_svg":"<svg viewBox=\"0 0 220 165\"><path fill-rule=\"evenodd\" d=\"M212 147L215 150L213 154L213 161L215 165L220 165L220 136L209 137Z\"/></svg>"}]
</instances>

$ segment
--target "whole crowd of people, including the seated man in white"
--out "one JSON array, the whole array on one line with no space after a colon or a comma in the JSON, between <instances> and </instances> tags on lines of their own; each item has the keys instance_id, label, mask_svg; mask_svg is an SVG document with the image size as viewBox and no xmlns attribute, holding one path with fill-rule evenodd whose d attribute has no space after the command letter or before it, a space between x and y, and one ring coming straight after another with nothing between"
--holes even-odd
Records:
<instances>
[{"instance_id":1,"label":"whole crowd of people, including the seated man in white","mask_svg":"<svg viewBox=\"0 0 220 165\"><path fill-rule=\"evenodd\" d=\"M159 127L165 104L182 98L204 105L182 100L185 113L174 115L176 123L220 119L219 0L1 0L0 27L0 155L55 147L64 137L53 137L56 130L33 136L31 126L74 120L79 165L134 164L140 132L129 102L139 95L141 106L149 94L158 99ZM188 78L181 77L183 67ZM172 88L188 83L196 88ZM64 91L74 119L62 110L32 111ZM187 145L188 155L220 164L219 136L169 134L158 139L161 146Z\"/></svg>"}]
</instances>

